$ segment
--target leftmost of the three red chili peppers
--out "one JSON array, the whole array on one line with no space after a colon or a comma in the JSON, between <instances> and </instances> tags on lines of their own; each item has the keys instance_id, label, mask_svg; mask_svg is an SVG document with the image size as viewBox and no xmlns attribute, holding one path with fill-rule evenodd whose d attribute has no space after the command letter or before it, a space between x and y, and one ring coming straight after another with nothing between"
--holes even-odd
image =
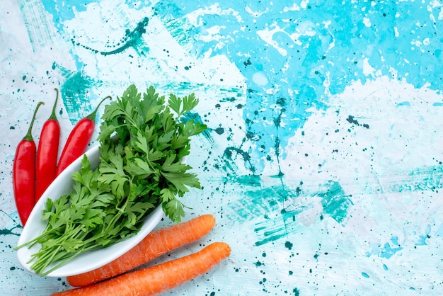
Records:
<instances>
[{"instance_id":1,"label":"leftmost of the three red chili peppers","mask_svg":"<svg viewBox=\"0 0 443 296\"><path fill-rule=\"evenodd\" d=\"M39 102L34 110L33 120L30 122L28 133L23 137L16 149L16 156L12 166L12 183L14 199L21 224L25 226L30 212L34 207L35 196L35 153L37 148L33 140L32 129L38 108L43 105Z\"/></svg>"}]
</instances>

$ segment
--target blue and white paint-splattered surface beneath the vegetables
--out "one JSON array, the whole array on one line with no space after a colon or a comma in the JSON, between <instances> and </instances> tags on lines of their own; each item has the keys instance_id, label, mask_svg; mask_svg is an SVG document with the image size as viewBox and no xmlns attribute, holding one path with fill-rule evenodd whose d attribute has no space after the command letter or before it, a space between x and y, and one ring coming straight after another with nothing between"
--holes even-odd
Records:
<instances>
[{"instance_id":1,"label":"blue and white paint-splattered surface beneath the vegetables","mask_svg":"<svg viewBox=\"0 0 443 296\"><path fill-rule=\"evenodd\" d=\"M171 294L443 292L441 1L67 2L0 4L6 294L67 288L23 271L11 249L23 106L59 87L66 137L130 83L200 98L192 117L209 129L190 164L204 189L185 197L188 217L212 212L202 244L234 250Z\"/></svg>"}]
</instances>

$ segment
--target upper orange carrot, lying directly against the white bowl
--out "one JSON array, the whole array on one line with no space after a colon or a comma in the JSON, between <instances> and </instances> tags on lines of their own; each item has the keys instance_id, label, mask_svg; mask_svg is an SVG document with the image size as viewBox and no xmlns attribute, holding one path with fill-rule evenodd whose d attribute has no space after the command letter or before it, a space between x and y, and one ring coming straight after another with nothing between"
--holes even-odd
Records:
<instances>
[{"instance_id":1,"label":"upper orange carrot, lying directly against the white bowl","mask_svg":"<svg viewBox=\"0 0 443 296\"><path fill-rule=\"evenodd\" d=\"M68 276L67 282L71 286L81 287L131 271L179 246L200 239L214 227L214 224L214 216L208 214L156 230L114 261L93 271Z\"/></svg>"}]
</instances>

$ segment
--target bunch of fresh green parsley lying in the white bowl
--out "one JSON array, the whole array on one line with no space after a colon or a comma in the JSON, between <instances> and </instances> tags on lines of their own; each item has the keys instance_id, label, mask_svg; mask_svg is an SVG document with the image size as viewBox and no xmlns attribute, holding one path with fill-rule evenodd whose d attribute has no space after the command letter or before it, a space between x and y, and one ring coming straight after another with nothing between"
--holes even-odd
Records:
<instances>
[{"instance_id":1,"label":"bunch of fresh green parsley lying in the white bowl","mask_svg":"<svg viewBox=\"0 0 443 296\"><path fill-rule=\"evenodd\" d=\"M190 137L206 126L180 120L197 103L193 93L183 99L171 94L166 105L154 87L142 94L132 85L105 106L98 168L91 170L84 156L72 192L47 200L45 231L17 247L41 245L30 260L36 273L47 275L84 251L137 234L157 206L180 222L185 212L178 197L190 187L200 188L183 157L190 154ZM57 265L45 271L52 263Z\"/></svg>"}]
</instances>

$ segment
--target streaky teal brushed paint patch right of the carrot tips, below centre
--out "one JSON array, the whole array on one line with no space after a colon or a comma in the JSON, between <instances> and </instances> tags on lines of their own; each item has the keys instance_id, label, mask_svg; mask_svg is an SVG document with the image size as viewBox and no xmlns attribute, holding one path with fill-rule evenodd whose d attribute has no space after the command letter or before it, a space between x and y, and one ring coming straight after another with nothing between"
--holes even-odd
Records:
<instances>
[{"instance_id":1,"label":"streaky teal brushed paint patch right of the carrot tips, below centre","mask_svg":"<svg viewBox=\"0 0 443 296\"><path fill-rule=\"evenodd\" d=\"M252 178L252 183L251 183ZM352 206L350 196L346 195L339 183L329 181L320 189L302 188L303 182L295 189L281 184L263 186L258 182L257 176L247 178L226 178L226 182L237 183L243 189L244 197L230 203L225 215L238 222L250 221L263 217L263 221L255 224L254 232L260 238L255 241L255 246L267 244L287 237L289 234L299 232L303 226L297 221L297 215L309 208L309 205L298 206L297 210L289 209L297 204L299 196L318 196L322 198L323 214L318 217L321 221L325 215L333 218L338 223L343 223L347 218L347 211Z\"/></svg>"}]
</instances>

